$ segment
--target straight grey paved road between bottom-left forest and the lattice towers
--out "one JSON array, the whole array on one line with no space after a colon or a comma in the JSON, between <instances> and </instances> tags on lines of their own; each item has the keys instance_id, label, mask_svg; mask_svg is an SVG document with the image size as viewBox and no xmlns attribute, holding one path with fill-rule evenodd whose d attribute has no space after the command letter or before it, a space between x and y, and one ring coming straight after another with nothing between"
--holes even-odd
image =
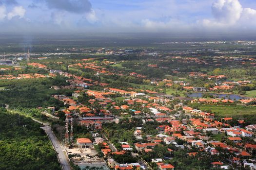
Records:
<instances>
[{"instance_id":1,"label":"straight grey paved road between bottom-left forest and the lattice towers","mask_svg":"<svg viewBox=\"0 0 256 170\"><path fill-rule=\"evenodd\" d=\"M61 143L59 140L56 138L56 136L53 134L51 127L46 125L44 127L41 127L46 134L48 135L49 139L51 140L56 152L58 153L59 156L59 162L63 170L71 170L71 167L69 165L68 158L66 154L64 153L65 151L62 150L61 148Z\"/></svg>"}]
</instances>

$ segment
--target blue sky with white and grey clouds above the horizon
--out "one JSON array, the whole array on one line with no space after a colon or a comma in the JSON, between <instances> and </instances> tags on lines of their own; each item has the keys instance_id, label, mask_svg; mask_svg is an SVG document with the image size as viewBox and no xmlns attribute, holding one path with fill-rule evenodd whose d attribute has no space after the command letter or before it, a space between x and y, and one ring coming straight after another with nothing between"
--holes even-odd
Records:
<instances>
[{"instance_id":1,"label":"blue sky with white and grey clouds above the horizon","mask_svg":"<svg viewBox=\"0 0 256 170\"><path fill-rule=\"evenodd\" d=\"M232 31L256 31L256 0L0 0L0 32Z\"/></svg>"}]
</instances>

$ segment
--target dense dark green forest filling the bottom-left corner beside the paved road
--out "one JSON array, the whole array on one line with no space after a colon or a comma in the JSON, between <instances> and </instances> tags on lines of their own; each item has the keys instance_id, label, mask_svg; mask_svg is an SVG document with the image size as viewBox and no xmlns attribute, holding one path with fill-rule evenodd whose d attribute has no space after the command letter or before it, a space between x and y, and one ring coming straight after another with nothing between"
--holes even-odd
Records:
<instances>
[{"instance_id":1,"label":"dense dark green forest filling the bottom-left corner beside the paved road","mask_svg":"<svg viewBox=\"0 0 256 170\"><path fill-rule=\"evenodd\" d=\"M40 125L0 108L0 170L61 170Z\"/></svg>"}]
</instances>

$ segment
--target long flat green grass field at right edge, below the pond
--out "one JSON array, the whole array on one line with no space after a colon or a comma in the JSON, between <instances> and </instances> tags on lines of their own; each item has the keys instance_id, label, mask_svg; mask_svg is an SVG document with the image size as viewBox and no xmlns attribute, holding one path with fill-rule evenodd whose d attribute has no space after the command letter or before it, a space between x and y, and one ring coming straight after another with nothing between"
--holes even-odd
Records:
<instances>
[{"instance_id":1,"label":"long flat green grass field at right edge, below the pond","mask_svg":"<svg viewBox=\"0 0 256 170\"><path fill-rule=\"evenodd\" d=\"M200 110L211 111L217 116L221 117L233 117L241 115L253 115L256 114L256 107L254 106L223 106L223 105L201 105Z\"/></svg>"}]
</instances>

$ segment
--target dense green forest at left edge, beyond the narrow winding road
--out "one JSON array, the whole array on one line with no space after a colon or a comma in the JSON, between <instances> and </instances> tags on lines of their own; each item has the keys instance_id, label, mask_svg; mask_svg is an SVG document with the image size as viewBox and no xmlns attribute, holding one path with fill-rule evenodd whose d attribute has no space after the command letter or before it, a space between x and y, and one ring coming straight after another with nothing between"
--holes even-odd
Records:
<instances>
[{"instance_id":1,"label":"dense green forest at left edge, beyond the narrow winding road","mask_svg":"<svg viewBox=\"0 0 256 170\"><path fill-rule=\"evenodd\" d=\"M9 104L13 108L54 106L58 110L63 106L63 102L52 98L51 95L64 93L50 89L52 85L68 84L61 77L1 81L0 86L5 86L6 90L0 91L0 104Z\"/></svg>"}]
</instances>

